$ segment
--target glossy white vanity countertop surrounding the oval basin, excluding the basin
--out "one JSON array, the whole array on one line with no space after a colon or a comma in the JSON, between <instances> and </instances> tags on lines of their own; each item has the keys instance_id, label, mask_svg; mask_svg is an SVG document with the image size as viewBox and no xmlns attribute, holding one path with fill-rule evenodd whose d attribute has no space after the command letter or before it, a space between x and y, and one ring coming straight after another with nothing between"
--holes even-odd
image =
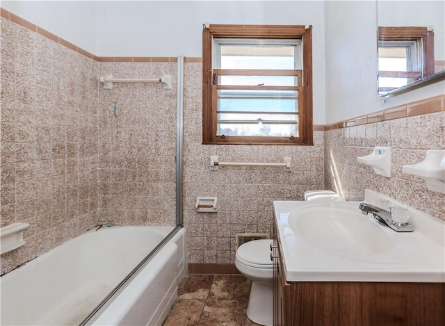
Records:
<instances>
[{"instance_id":1,"label":"glossy white vanity countertop surrounding the oval basin, excluding the basin","mask_svg":"<svg viewBox=\"0 0 445 326\"><path fill-rule=\"evenodd\" d=\"M369 195L370 190L366 190ZM375 195L371 190L371 195ZM371 196L372 197L372 196ZM381 197L381 196L380 196ZM385 197L385 196L383 196ZM386 197L387 198L387 197ZM391 202L394 202L391 199ZM289 282L445 282L445 222L419 211L413 211L410 223L414 232L396 232L380 225L373 215L362 215L358 209L360 202L314 203L303 201L275 201L273 203L277 236L282 249L282 258ZM330 205L352 211L354 217L369 219L380 227L391 241L388 250L376 253L355 252L349 248L343 252L328 245L319 245L296 227L296 212L310 206ZM307 220L310 220L309 216ZM316 218L314 216L313 218ZM309 221L314 225L312 220ZM321 223L320 228L328 227ZM316 225L318 228L318 225ZM323 229L321 229L323 234ZM366 234L366 229L365 229ZM343 240L341 240L343 241ZM357 239L355 240L357 241ZM373 250L374 239L371 241ZM376 238L375 241L378 241ZM380 243L375 243L380 245ZM348 249L348 248L347 248Z\"/></svg>"}]
</instances>

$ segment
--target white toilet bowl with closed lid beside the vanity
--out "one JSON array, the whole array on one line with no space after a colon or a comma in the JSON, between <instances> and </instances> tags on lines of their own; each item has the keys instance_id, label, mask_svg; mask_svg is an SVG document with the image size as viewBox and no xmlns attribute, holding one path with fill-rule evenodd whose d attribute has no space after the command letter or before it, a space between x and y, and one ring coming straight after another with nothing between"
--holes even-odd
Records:
<instances>
[{"instance_id":1,"label":"white toilet bowl with closed lid beside the vanity","mask_svg":"<svg viewBox=\"0 0 445 326\"><path fill-rule=\"evenodd\" d=\"M254 240L236 250L235 266L252 281L247 315L259 325L273 325L273 264L270 260L272 240Z\"/></svg>"}]
</instances>

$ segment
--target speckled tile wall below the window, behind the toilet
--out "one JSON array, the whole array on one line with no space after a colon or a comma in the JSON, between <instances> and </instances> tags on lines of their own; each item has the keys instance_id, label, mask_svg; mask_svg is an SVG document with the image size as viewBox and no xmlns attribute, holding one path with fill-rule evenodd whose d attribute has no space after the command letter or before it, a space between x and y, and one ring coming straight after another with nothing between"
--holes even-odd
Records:
<instances>
[{"instance_id":1,"label":"speckled tile wall below the window, behind the toilet","mask_svg":"<svg viewBox=\"0 0 445 326\"><path fill-rule=\"evenodd\" d=\"M235 234L271 235L273 200L303 199L324 187L323 131L314 146L202 145L202 64L186 63L184 85L184 227L188 263L234 263ZM210 170L210 156L232 162L282 162L283 168L224 167ZM218 213L197 213L197 196L218 197Z\"/></svg>"}]
</instances>

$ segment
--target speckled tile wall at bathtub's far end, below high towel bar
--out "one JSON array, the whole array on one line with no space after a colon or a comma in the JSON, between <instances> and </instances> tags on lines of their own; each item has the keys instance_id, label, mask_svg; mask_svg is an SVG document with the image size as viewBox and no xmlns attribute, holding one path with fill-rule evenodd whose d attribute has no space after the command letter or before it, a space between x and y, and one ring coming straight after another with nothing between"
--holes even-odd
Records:
<instances>
[{"instance_id":1,"label":"speckled tile wall at bathtub's far end, below high towel bar","mask_svg":"<svg viewBox=\"0 0 445 326\"><path fill-rule=\"evenodd\" d=\"M99 63L100 76L172 76L171 90L152 83L99 87L100 223L176 225L177 63L163 60Z\"/></svg>"}]
</instances>

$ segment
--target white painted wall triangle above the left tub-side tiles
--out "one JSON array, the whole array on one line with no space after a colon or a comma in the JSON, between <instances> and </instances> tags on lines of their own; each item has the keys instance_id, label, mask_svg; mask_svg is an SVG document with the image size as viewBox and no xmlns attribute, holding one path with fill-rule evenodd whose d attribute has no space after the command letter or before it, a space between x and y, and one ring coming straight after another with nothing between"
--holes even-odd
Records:
<instances>
[{"instance_id":1,"label":"white painted wall triangle above the left tub-side tiles","mask_svg":"<svg viewBox=\"0 0 445 326\"><path fill-rule=\"evenodd\" d=\"M28 22L97 54L96 1L1 1L1 7Z\"/></svg>"}]
</instances>

